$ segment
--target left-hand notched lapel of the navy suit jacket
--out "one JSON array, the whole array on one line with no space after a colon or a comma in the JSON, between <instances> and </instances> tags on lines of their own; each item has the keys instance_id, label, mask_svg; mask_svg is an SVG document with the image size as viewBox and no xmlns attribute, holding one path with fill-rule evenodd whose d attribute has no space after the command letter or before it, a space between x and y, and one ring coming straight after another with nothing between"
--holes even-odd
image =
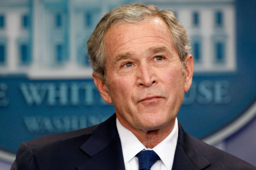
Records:
<instances>
[{"instance_id":1,"label":"left-hand notched lapel of the navy suit jacket","mask_svg":"<svg viewBox=\"0 0 256 170\"><path fill-rule=\"evenodd\" d=\"M120 137L116 129L116 116L99 124L91 137L80 147L90 159L77 167L78 170L124 170L124 158Z\"/></svg>"}]
</instances>

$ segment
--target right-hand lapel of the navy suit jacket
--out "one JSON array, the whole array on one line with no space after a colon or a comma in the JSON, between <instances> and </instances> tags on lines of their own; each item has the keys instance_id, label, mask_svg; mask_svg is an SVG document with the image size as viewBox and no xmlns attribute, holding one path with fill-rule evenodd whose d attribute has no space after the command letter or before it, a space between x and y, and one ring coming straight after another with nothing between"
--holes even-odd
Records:
<instances>
[{"instance_id":1,"label":"right-hand lapel of the navy suit jacket","mask_svg":"<svg viewBox=\"0 0 256 170\"><path fill-rule=\"evenodd\" d=\"M179 123L179 136L172 170L203 170L210 165Z\"/></svg>"}]
</instances>

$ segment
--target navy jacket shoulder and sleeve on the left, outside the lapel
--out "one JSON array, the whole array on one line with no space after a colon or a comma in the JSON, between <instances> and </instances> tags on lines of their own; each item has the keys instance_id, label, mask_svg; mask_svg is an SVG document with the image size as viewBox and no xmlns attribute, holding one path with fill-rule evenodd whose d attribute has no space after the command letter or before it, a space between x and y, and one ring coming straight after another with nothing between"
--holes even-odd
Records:
<instances>
[{"instance_id":1,"label":"navy jacket shoulder and sleeve on the left, outside the lapel","mask_svg":"<svg viewBox=\"0 0 256 170\"><path fill-rule=\"evenodd\" d=\"M98 125L22 142L11 170L74 169L88 158L80 146Z\"/></svg>"}]
</instances>

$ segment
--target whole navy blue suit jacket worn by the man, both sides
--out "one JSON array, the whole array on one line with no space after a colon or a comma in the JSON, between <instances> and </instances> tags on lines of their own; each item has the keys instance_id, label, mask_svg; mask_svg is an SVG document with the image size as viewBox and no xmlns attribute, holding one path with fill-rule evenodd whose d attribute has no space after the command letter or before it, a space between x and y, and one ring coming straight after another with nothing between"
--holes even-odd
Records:
<instances>
[{"instance_id":1,"label":"whole navy blue suit jacket worn by the man, both sides","mask_svg":"<svg viewBox=\"0 0 256 170\"><path fill-rule=\"evenodd\" d=\"M125 170L116 116L81 130L21 143L11 170ZM172 170L256 170L188 135L179 124Z\"/></svg>"}]
</instances>

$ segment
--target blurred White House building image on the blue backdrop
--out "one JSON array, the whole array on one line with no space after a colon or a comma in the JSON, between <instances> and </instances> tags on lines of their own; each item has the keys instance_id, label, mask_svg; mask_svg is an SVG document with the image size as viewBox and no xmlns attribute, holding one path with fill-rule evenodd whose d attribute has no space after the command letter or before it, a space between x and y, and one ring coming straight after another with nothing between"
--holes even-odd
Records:
<instances>
[{"instance_id":1,"label":"blurred White House building image on the blue backdrop","mask_svg":"<svg viewBox=\"0 0 256 170\"><path fill-rule=\"evenodd\" d=\"M174 10L191 37L195 74L236 71L234 0L1 0L0 75L91 78L88 37L107 11L135 2Z\"/></svg>"}]
</instances>

